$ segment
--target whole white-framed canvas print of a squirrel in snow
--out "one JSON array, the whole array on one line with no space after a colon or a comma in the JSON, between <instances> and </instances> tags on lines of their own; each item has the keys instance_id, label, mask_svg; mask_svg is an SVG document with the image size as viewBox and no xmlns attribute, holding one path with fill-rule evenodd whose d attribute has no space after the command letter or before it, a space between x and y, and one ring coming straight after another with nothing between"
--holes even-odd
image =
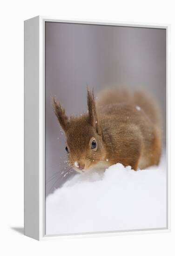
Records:
<instances>
[{"instance_id":1,"label":"whole white-framed canvas print of a squirrel in snow","mask_svg":"<svg viewBox=\"0 0 175 256\"><path fill-rule=\"evenodd\" d=\"M169 27L24 29L25 235L169 230Z\"/></svg>"}]
</instances>

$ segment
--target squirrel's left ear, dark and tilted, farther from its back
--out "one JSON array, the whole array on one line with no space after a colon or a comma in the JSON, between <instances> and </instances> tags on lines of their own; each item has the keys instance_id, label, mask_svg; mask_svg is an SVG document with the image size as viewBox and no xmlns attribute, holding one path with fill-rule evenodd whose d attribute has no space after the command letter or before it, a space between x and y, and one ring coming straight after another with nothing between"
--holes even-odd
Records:
<instances>
[{"instance_id":1,"label":"squirrel's left ear, dark and tilted, farther from its back","mask_svg":"<svg viewBox=\"0 0 175 256\"><path fill-rule=\"evenodd\" d=\"M54 108L54 113L61 125L61 128L66 132L69 125L69 120L67 115L65 114L65 109L61 107L61 104L57 102L54 97L52 98L52 105Z\"/></svg>"}]
</instances>

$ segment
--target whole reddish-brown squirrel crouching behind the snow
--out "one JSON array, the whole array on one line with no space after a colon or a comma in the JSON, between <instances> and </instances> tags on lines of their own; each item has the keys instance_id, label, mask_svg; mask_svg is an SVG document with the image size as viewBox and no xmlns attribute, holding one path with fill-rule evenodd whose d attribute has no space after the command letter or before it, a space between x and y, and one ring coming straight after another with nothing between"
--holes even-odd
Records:
<instances>
[{"instance_id":1,"label":"whole reddish-brown squirrel crouching behind the snow","mask_svg":"<svg viewBox=\"0 0 175 256\"><path fill-rule=\"evenodd\" d=\"M159 163L160 112L155 100L143 92L116 88L103 91L96 102L88 90L87 99L88 113L70 118L53 99L55 115L67 137L69 165L80 172L104 170L116 162L134 170ZM95 149L92 140L97 142Z\"/></svg>"}]
</instances>

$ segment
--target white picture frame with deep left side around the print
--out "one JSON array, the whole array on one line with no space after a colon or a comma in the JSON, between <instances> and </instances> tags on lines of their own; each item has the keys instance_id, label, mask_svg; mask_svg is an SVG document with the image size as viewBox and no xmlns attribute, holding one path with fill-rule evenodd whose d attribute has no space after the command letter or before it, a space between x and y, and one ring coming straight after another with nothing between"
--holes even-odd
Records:
<instances>
[{"instance_id":1,"label":"white picture frame with deep left side around the print","mask_svg":"<svg viewBox=\"0 0 175 256\"><path fill-rule=\"evenodd\" d=\"M167 35L167 227L166 229L125 230L78 234L106 236L135 233L168 232L170 230L170 26L159 24L128 24L123 22L57 20L37 16L24 22L24 234L37 240L55 237L45 235L45 22L67 22L110 26L166 29ZM62 237L74 235L62 235ZM56 236L61 237L61 236Z\"/></svg>"}]
</instances>

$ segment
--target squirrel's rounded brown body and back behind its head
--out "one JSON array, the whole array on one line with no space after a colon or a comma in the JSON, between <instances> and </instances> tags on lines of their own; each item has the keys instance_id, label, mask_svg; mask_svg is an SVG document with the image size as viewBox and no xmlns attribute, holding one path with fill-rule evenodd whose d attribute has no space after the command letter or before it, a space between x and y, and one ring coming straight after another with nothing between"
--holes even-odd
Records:
<instances>
[{"instance_id":1,"label":"squirrel's rounded brown body and back behind its head","mask_svg":"<svg viewBox=\"0 0 175 256\"><path fill-rule=\"evenodd\" d=\"M112 88L97 96L96 107L103 140L113 158L120 156L124 165L138 159L134 169L159 163L161 115L155 99L145 92Z\"/></svg>"}]
</instances>

